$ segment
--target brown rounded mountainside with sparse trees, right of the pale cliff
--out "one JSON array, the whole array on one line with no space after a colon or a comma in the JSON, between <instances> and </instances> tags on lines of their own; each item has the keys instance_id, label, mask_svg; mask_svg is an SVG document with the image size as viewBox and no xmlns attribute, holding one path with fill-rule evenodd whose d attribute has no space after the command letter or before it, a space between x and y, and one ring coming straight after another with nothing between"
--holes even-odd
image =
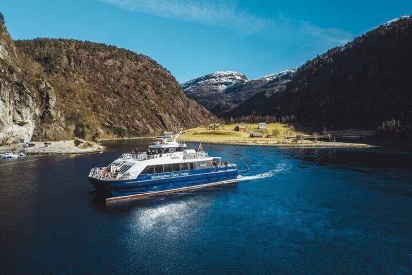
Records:
<instances>
[{"instance_id":1,"label":"brown rounded mountainside with sparse trees, right of the pale cliff","mask_svg":"<svg viewBox=\"0 0 412 275\"><path fill-rule=\"evenodd\" d=\"M135 136L208 122L172 74L153 59L105 44L69 39L15 41L17 54L40 64L56 92L58 123L76 136ZM38 134L42 136L42 134Z\"/></svg>"}]
</instances>

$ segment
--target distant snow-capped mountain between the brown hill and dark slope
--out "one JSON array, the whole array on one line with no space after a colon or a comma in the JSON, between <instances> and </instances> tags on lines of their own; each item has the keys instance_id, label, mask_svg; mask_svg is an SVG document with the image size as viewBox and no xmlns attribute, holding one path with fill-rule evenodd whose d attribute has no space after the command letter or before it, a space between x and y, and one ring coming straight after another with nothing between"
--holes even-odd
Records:
<instances>
[{"instance_id":1,"label":"distant snow-capped mountain between the brown hill and dark slope","mask_svg":"<svg viewBox=\"0 0 412 275\"><path fill-rule=\"evenodd\" d=\"M223 115L258 92L276 92L283 89L294 70L248 79L239 72L215 72L189 80L181 86L192 99L216 115Z\"/></svg>"}]
</instances>

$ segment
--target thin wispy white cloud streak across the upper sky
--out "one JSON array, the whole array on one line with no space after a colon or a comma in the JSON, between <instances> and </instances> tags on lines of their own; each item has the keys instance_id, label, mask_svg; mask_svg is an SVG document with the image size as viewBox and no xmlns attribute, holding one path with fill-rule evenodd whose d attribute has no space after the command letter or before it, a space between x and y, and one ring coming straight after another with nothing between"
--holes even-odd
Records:
<instances>
[{"instance_id":1,"label":"thin wispy white cloud streak across the upper sky","mask_svg":"<svg viewBox=\"0 0 412 275\"><path fill-rule=\"evenodd\" d=\"M267 18L238 7L237 2L205 0L101 0L121 9L160 18L194 22L235 32L240 37L262 36L279 39L299 35L301 38L327 45L341 45L353 35L339 29L321 28L309 22L283 18ZM309 42L309 41L307 41Z\"/></svg>"}]
</instances>

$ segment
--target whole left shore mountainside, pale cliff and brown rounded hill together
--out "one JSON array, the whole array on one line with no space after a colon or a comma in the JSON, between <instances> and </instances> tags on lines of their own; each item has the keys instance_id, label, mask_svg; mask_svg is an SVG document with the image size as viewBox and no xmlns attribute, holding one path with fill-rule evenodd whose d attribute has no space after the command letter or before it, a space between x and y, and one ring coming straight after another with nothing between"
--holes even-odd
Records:
<instances>
[{"instance_id":1,"label":"whole left shore mountainside, pale cliff and brown rounded hill together","mask_svg":"<svg viewBox=\"0 0 412 275\"><path fill-rule=\"evenodd\" d=\"M0 23L0 142L137 136L214 119L153 59L71 39L13 41Z\"/></svg>"}]
</instances>

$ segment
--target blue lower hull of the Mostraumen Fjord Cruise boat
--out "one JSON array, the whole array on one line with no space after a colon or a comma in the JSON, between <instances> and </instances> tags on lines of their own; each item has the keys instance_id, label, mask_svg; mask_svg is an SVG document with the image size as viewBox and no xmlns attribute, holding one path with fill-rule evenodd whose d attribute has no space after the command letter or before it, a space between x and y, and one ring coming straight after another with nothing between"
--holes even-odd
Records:
<instances>
[{"instance_id":1,"label":"blue lower hull of the Mostraumen Fjord Cruise boat","mask_svg":"<svg viewBox=\"0 0 412 275\"><path fill-rule=\"evenodd\" d=\"M113 201L229 183L236 181L237 177L236 168L215 168L138 176L137 179L127 181L104 181L89 177L89 181L99 193L109 197L106 201Z\"/></svg>"}]
</instances>

